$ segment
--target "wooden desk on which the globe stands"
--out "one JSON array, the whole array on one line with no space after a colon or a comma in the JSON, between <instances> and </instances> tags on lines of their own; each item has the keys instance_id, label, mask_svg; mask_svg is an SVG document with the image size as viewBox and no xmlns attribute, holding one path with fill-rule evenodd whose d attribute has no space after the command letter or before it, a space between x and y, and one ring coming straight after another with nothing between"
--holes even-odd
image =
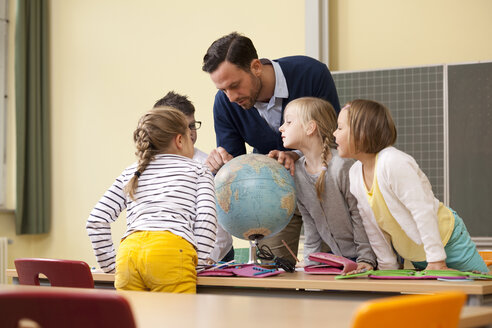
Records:
<instances>
[{"instance_id":1,"label":"wooden desk on which the globe stands","mask_svg":"<svg viewBox=\"0 0 492 328\"><path fill-rule=\"evenodd\" d=\"M16 283L17 272L7 270ZM93 273L97 287L114 288L113 274ZM329 275L304 272L283 273L269 278L198 277L198 293L284 296L322 299L368 300L401 293L435 293L461 290L468 295L467 305L492 304L492 281L449 282L438 280L335 280Z\"/></svg>"}]
</instances>

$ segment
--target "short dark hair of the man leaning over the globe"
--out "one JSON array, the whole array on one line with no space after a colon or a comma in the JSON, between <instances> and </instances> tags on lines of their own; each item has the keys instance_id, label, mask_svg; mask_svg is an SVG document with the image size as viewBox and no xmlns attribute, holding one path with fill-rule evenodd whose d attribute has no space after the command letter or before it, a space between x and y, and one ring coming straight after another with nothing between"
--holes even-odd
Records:
<instances>
[{"instance_id":1,"label":"short dark hair of the man leaning over the globe","mask_svg":"<svg viewBox=\"0 0 492 328\"><path fill-rule=\"evenodd\" d=\"M222 62L228 61L249 72L253 59L258 59L258 54L251 39L232 32L215 40L208 48L203 57L202 70L213 73Z\"/></svg>"}]
</instances>

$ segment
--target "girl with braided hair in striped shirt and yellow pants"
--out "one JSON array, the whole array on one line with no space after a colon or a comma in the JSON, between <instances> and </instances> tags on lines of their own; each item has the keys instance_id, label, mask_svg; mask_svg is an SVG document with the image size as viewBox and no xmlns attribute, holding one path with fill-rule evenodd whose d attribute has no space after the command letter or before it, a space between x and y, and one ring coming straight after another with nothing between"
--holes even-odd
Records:
<instances>
[{"instance_id":1,"label":"girl with braided hair in striped shirt and yellow pants","mask_svg":"<svg viewBox=\"0 0 492 328\"><path fill-rule=\"evenodd\" d=\"M119 290L195 293L196 266L206 264L217 229L213 176L193 161L186 117L153 109L133 134L138 161L116 179L87 220L99 266ZM115 254L110 224L126 209Z\"/></svg>"}]
</instances>

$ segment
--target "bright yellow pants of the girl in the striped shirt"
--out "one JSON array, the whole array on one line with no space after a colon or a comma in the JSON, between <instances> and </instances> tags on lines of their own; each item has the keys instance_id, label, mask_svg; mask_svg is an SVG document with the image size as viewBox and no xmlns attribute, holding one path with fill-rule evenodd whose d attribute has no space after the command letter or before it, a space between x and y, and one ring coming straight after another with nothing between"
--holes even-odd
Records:
<instances>
[{"instance_id":1,"label":"bright yellow pants of the girl in the striped shirt","mask_svg":"<svg viewBox=\"0 0 492 328\"><path fill-rule=\"evenodd\" d=\"M169 231L137 231L116 255L114 285L119 290L196 293L195 248Z\"/></svg>"}]
</instances>

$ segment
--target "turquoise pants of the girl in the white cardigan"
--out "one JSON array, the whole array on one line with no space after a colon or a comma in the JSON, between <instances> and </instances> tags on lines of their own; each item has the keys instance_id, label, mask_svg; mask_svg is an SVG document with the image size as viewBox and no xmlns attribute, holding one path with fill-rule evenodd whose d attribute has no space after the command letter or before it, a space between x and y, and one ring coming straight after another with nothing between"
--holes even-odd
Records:
<instances>
[{"instance_id":1,"label":"turquoise pants of the girl in the white cardigan","mask_svg":"<svg viewBox=\"0 0 492 328\"><path fill-rule=\"evenodd\" d=\"M459 271L489 272L487 265L477 252L477 246L471 240L465 223L455 211L450 209L454 215L454 229L448 243L444 247L446 252L446 265L448 268ZM423 270L427 266L426 261L412 262L416 269Z\"/></svg>"}]
</instances>

